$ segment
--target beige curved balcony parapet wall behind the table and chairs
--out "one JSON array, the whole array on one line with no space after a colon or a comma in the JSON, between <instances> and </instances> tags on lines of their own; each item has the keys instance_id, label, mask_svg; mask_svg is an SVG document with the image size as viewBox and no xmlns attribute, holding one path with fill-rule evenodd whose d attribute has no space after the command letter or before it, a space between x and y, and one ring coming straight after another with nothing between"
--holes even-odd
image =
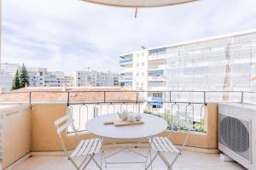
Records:
<instances>
[{"instance_id":1,"label":"beige curved balcony parapet wall behind the table and chairs","mask_svg":"<svg viewBox=\"0 0 256 170\"><path fill-rule=\"evenodd\" d=\"M32 151L61 150L54 122L66 114L67 105L44 104L32 105ZM187 145L202 149L218 148L218 105L208 104L206 111L207 133L190 133ZM165 134L167 134L166 132ZM67 149L72 150L77 144L74 136L63 134ZM83 138L93 138L94 135L85 133ZM173 133L174 144L182 144L184 133ZM144 140L146 142L146 140ZM106 143L130 143L132 140L107 140Z\"/></svg>"}]
</instances>

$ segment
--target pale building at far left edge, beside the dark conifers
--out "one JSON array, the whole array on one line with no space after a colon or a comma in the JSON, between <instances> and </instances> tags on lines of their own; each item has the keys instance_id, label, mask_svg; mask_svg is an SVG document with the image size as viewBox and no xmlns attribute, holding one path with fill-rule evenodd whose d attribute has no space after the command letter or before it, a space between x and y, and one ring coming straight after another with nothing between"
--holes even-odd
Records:
<instances>
[{"instance_id":1,"label":"pale building at far left edge, beside the dark conifers","mask_svg":"<svg viewBox=\"0 0 256 170\"><path fill-rule=\"evenodd\" d=\"M3 91L9 91L20 65L9 63L1 63L0 65L0 88L3 88Z\"/></svg>"}]
</instances>

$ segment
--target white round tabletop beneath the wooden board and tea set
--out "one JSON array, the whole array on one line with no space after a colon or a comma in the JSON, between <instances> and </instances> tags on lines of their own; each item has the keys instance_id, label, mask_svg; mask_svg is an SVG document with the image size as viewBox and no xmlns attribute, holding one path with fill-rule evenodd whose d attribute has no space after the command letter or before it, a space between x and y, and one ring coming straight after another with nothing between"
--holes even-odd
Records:
<instances>
[{"instance_id":1,"label":"white round tabletop beneath the wooden board and tea set","mask_svg":"<svg viewBox=\"0 0 256 170\"><path fill-rule=\"evenodd\" d=\"M142 139L162 133L166 130L167 122L159 117L141 114L144 124L124 127L104 125L119 118L117 114L97 116L86 123L86 129L90 133L109 139Z\"/></svg>"}]
</instances>

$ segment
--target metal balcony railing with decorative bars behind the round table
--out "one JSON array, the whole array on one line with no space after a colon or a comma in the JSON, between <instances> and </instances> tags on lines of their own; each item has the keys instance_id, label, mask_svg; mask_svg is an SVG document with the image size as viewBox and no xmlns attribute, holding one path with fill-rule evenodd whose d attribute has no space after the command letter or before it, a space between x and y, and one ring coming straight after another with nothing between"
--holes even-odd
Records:
<instances>
[{"instance_id":1,"label":"metal balcony railing with decorative bars behind the round table","mask_svg":"<svg viewBox=\"0 0 256 170\"><path fill-rule=\"evenodd\" d=\"M162 98L149 94L160 93ZM155 114L166 119L169 126L177 111L194 119L194 130L205 132L205 108L208 103L233 102L256 105L256 92L243 91L32 91L0 94L0 104L65 104L73 108L77 128L94 116L117 111ZM83 123L82 123L83 122ZM178 127L178 126L177 126Z\"/></svg>"}]
</instances>

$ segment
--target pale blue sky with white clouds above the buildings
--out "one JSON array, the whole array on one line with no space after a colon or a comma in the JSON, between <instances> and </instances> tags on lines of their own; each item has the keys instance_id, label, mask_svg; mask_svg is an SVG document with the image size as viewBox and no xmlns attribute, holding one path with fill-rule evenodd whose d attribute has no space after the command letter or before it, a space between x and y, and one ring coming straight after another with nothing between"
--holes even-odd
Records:
<instances>
[{"instance_id":1,"label":"pale blue sky with white clouds above the buildings","mask_svg":"<svg viewBox=\"0 0 256 170\"><path fill-rule=\"evenodd\" d=\"M80 0L2 0L2 62L49 71L121 70L119 54L256 28L255 0L113 8Z\"/></svg>"}]
</instances>

